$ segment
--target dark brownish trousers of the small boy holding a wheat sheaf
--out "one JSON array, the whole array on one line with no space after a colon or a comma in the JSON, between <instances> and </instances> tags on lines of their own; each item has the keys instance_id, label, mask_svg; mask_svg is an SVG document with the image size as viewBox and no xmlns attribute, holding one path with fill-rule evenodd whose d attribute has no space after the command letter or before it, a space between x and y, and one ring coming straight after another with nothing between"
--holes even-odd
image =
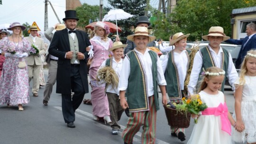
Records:
<instances>
[{"instance_id":1,"label":"dark brownish trousers of the small boy holding a wheat sheaf","mask_svg":"<svg viewBox=\"0 0 256 144\"><path fill-rule=\"evenodd\" d=\"M124 109L120 105L119 96L116 93L107 92L109 107L110 107L110 119L112 123L110 126L112 130L119 130L120 125L118 121L120 120Z\"/></svg>"}]
</instances>

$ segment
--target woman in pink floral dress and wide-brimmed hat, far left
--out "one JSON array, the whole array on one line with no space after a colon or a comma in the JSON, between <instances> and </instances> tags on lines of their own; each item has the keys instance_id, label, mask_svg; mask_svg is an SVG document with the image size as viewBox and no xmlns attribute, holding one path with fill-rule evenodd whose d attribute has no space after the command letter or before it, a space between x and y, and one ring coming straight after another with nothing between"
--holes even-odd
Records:
<instances>
[{"instance_id":1,"label":"woman in pink floral dress and wide-brimmed hat, far left","mask_svg":"<svg viewBox=\"0 0 256 144\"><path fill-rule=\"evenodd\" d=\"M0 77L0 104L7 106L18 105L18 110L22 111L22 104L29 102L29 85L27 64L25 68L19 68L19 62L26 62L30 50L29 42L22 37L22 31L26 27L18 22L12 23L8 30L13 34L4 37L0 41L0 49L5 53L5 62Z\"/></svg>"}]
</instances>

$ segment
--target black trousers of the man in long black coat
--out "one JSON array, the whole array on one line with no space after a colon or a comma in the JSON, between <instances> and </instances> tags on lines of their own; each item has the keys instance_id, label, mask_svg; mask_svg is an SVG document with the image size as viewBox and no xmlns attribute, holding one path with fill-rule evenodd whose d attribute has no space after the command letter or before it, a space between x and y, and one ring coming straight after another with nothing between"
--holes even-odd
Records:
<instances>
[{"instance_id":1,"label":"black trousers of the man in long black coat","mask_svg":"<svg viewBox=\"0 0 256 144\"><path fill-rule=\"evenodd\" d=\"M71 64L70 79L71 89L74 92L73 97L71 97L71 94L62 94L62 114L65 123L75 121L75 110L82 103L85 94L79 73L79 67L79 64Z\"/></svg>"}]
</instances>

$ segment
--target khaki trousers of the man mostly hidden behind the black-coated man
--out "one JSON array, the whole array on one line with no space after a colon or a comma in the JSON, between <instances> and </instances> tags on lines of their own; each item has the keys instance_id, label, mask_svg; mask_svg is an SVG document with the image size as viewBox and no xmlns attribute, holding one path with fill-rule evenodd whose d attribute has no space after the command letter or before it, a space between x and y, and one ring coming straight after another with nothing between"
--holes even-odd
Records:
<instances>
[{"instance_id":1,"label":"khaki trousers of the man mostly hidden behind the black-coated man","mask_svg":"<svg viewBox=\"0 0 256 144\"><path fill-rule=\"evenodd\" d=\"M52 91L53 91L53 86L56 82L57 79L57 68L58 68L58 63L57 61L51 61L49 63L49 70L48 70L48 78L46 82L46 88L44 91L44 100L49 101Z\"/></svg>"}]
</instances>

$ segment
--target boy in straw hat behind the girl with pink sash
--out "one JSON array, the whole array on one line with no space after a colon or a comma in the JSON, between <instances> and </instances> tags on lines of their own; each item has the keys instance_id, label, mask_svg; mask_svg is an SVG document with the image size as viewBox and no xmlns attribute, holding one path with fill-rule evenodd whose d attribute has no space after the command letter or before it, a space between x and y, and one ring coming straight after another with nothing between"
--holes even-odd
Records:
<instances>
[{"instance_id":1,"label":"boy in straw hat behind the girl with pink sash","mask_svg":"<svg viewBox=\"0 0 256 144\"><path fill-rule=\"evenodd\" d=\"M226 79L229 79L229 84L233 86L233 83L238 78L235 65L232 61L232 57L228 50L221 48L220 43L229 39L229 36L225 36L222 27L210 27L209 34L202 36L203 39L209 40L209 45L200 49L194 57L194 63L192 72L190 75L190 81L188 84L189 95L195 94L196 85L199 79L199 75L202 69L205 70L209 67L215 66L224 70L225 79L222 83L221 91L224 92L224 83ZM235 87L232 87L235 90Z\"/></svg>"}]
</instances>

